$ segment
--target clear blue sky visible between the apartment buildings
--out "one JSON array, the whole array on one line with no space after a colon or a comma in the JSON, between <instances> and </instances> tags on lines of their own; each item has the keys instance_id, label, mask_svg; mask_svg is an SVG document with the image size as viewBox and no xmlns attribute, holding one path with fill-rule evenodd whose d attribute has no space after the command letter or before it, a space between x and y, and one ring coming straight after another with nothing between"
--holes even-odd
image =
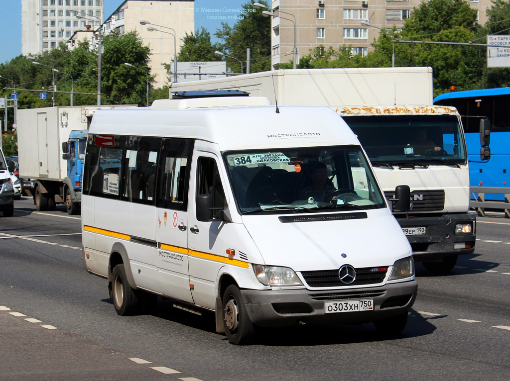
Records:
<instances>
[{"instance_id":1,"label":"clear blue sky visible between the apartment buildings","mask_svg":"<svg viewBox=\"0 0 510 381\"><path fill-rule=\"evenodd\" d=\"M104 0L105 15L110 16L124 0ZM202 26L211 33L211 41L217 41L213 36L216 29L221 27L221 21L234 25L235 19L224 19L221 17L235 16L236 13L225 12L202 12L203 8L215 9L237 9L248 0L195 0L195 30ZM2 38L0 39L0 63L5 63L21 54L21 1L20 0L0 0L0 25L2 28Z\"/></svg>"}]
</instances>

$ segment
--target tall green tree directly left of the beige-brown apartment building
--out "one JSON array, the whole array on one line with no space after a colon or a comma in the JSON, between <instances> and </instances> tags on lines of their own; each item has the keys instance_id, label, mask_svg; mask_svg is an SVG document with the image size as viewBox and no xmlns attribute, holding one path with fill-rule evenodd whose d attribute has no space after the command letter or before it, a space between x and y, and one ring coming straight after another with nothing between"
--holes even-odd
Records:
<instances>
[{"instance_id":1,"label":"tall green tree directly left of the beige-brown apartment building","mask_svg":"<svg viewBox=\"0 0 510 381\"><path fill-rule=\"evenodd\" d=\"M243 5L245 10L239 15L239 21L233 28L222 22L222 28L214 34L222 44L219 50L243 62L246 67L246 48L250 48L250 72L267 71L271 69L271 20L262 15L262 9L253 7L254 0ZM268 6L265 1L262 4ZM241 72L241 65L231 58L226 59L227 66L236 73Z\"/></svg>"}]
</instances>

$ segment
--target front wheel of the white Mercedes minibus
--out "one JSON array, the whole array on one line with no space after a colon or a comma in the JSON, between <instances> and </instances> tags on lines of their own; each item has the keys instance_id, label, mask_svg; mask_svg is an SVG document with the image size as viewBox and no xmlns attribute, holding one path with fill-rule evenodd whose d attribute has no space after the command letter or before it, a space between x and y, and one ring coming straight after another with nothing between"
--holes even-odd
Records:
<instances>
[{"instance_id":1,"label":"front wheel of the white Mercedes minibus","mask_svg":"<svg viewBox=\"0 0 510 381\"><path fill-rule=\"evenodd\" d=\"M234 345L249 344L253 340L255 330L237 286L230 285L226 288L221 306L221 317L228 341Z\"/></svg>"}]
</instances>

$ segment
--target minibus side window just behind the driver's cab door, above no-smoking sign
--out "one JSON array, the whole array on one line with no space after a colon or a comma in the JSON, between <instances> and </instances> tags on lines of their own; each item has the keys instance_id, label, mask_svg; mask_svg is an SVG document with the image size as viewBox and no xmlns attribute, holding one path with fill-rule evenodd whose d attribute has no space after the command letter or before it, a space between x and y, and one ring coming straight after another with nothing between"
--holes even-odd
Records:
<instances>
[{"instance_id":1,"label":"minibus side window just behind the driver's cab door, above no-smoking sign","mask_svg":"<svg viewBox=\"0 0 510 381\"><path fill-rule=\"evenodd\" d=\"M156 206L188 210L188 189L191 171L192 139L163 139L158 168Z\"/></svg>"}]
</instances>

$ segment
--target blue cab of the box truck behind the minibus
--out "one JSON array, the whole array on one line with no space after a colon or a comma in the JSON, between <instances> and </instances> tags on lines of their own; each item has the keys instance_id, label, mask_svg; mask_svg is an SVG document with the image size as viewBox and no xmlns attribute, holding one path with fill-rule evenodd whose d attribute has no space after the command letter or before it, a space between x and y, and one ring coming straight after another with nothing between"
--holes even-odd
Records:
<instances>
[{"instance_id":1,"label":"blue cab of the box truck behind the minibus","mask_svg":"<svg viewBox=\"0 0 510 381\"><path fill-rule=\"evenodd\" d=\"M80 213L87 132L88 130L71 131L69 140L62 143L62 158L67 160L67 176L64 178L63 195L69 214Z\"/></svg>"}]
</instances>

